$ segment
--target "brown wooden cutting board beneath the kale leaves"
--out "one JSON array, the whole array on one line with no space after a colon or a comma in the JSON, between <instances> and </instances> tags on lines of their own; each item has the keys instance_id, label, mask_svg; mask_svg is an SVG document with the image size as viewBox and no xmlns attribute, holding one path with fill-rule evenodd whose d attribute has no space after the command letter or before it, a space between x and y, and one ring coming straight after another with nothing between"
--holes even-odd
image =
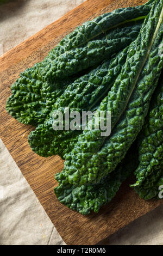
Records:
<instances>
[{"instance_id":1,"label":"brown wooden cutting board beneath the kale leaves","mask_svg":"<svg viewBox=\"0 0 163 256\"><path fill-rule=\"evenodd\" d=\"M103 206L98 214L82 216L58 202L53 192L54 187L57 186L54 174L62 170L64 161L59 156L40 157L30 150L28 135L33 127L18 123L5 111L5 102L11 94L10 86L21 71L43 60L49 50L84 21L116 8L145 2L87 0L0 57L0 138L68 245L95 245L163 202L142 200L128 186L129 181L122 184L114 200Z\"/></svg>"}]
</instances>

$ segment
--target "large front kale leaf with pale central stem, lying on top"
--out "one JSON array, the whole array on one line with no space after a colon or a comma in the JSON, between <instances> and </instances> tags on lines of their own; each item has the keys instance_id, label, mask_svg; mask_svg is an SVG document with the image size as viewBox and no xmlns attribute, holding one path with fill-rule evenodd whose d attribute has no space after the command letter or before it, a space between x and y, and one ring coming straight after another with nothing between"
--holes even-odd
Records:
<instances>
[{"instance_id":1,"label":"large front kale leaf with pale central stem, lying on top","mask_svg":"<svg viewBox=\"0 0 163 256\"><path fill-rule=\"evenodd\" d=\"M163 65L162 6L162 0L154 2L120 75L99 106L111 112L111 135L102 137L100 129L86 129L66 155L64 172L75 186L98 183L112 172L142 129Z\"/></svg>"}]
</instances>

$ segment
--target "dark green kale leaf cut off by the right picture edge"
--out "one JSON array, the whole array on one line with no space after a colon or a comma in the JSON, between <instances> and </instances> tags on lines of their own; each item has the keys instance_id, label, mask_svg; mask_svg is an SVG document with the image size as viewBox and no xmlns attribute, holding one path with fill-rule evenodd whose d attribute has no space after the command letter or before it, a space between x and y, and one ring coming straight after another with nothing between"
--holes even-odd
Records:
<instances>
[{"instance_id":1,"label":"dark green kale leaf cut off by the right picture edge","mask_svg":"<svg viewBox=\"0 0 163 256\"><path fill-rule=\"evenodd\" d=\"M163 185L163 76L140 137L139 162L135 170L137 181L131 187L136 187L136 192L144 199L156 197L158 187Z\"/></svg>"}]
</instances>

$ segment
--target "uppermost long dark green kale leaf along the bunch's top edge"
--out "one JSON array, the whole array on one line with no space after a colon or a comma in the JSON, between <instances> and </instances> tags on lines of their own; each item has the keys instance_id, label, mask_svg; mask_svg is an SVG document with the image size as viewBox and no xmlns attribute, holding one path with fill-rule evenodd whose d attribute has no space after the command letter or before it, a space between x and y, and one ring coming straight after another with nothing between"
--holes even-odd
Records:
<instances>
[{"instance_id":1,"label":"uppermost long dark green kale leaf along the bunch's top edge","mask_svg":"<svg viewBox=\"0 0 163 256\"><path fill-rule=\"evenodd\" d=\"M144 19L150 9L151 3L117 9L77 27L48 53L42 68L40 65L43 79L54 81L56 78L71 76L108 59L113 51L118 52L127 46L121 38L108 40L108 31Z\"/></svg>"}]
</instances>

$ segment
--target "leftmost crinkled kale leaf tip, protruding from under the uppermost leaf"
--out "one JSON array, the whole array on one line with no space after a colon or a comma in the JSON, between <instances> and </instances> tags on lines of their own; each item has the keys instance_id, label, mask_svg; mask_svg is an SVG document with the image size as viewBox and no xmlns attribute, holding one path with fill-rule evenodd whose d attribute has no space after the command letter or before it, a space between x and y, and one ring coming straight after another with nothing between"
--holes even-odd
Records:
<instances>
[{"instance_id":1,"label":"leftmost crinkled kale leaf tip, protruding from under the uppermost leaf","mask_svg":"<svg viewBox=\"0 0 163 256\"><path fill-rule=\"evenodd\" d=\"M6 103L7 112L23 124L37 126L45 121L57 98L75 78L43 82L37 74L37 65L20 74L11 86L12 95Z\"/></svg>"}]
</instances>

